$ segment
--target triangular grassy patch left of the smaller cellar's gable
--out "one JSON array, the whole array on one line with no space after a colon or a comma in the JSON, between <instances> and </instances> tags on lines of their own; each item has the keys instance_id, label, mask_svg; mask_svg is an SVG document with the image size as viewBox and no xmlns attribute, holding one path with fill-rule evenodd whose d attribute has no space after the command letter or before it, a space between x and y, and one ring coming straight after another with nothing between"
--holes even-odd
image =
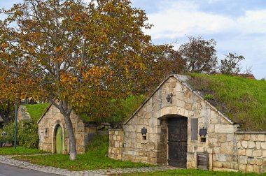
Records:
<instances>
[{"instance_id":1,"label":"triangular grassy patch left of the smaller cellar's gable","mask_svg":"<svg viewBox=\"0 0 266 176\"><path fill-rule=\"evenodd\" d=\"M36 123L38 119L43 115L45 110L49 107L49 103L41 103L41 104L34 104L34 105L26 105L26 108L31 116L31 119Z\"/></svg>"}]
</instances>

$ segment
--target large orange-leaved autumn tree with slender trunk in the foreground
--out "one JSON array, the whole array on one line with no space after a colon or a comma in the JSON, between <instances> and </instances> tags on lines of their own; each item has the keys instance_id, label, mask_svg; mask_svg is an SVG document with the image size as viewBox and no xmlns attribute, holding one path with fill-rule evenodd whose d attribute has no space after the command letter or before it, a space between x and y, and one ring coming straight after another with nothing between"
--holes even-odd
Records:
<instances>
[{"instance_id":1,"label":"large orange-leaved autumn tree with slender trunk in the foreground","mask_svg":"<svg viewBox=\"0 0 266 176\"><path fill-rule=\"evenodd\" d=\"M2 78L13 85L5 94L48 98L64 116L70 159L76 159L71 112L107 115L112 98L147 82L154 63L148 53L160 54L141 31L151 28L144 10L130 0L25 0L2 12L8 15L1 22Z\"/></svg>"}]
</instances>

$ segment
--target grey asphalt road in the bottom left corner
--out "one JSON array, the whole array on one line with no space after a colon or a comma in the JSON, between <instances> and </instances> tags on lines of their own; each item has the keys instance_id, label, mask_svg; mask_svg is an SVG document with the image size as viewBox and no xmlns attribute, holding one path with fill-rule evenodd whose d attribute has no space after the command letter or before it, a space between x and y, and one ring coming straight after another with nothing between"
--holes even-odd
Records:
<instances>
[{"instance_id":1,"label":"grey asphalt road in the bottom left corner","mask_svg":"<svg viewBox=\"0 0 266 176\"><path fill-rule=\"evenodd\" d=\"M10 166L0 163L0 176L55 176L55 175L26 168L18 168L15 166Z\"/></svg>"}]
</instances>

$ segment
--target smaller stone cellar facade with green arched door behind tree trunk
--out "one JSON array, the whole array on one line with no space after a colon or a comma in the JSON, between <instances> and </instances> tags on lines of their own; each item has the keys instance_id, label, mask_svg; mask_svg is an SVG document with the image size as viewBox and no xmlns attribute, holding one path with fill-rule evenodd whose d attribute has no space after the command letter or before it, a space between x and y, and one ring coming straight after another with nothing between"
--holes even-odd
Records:
<instances>
[{"instance_id":1,"label":"smaller stone cellar facade with green arched door behind tree trunk","mask_svg":"<svg viewBox=\"0 0 266 176\"><path fill-rule=\"evenodd\" d=\"M78 154L82 154L85 152L87 144L96 135L96 125L83 122L75 112L71 112L70 118L76 138L76 149ZM39 149L52 153L69 153L66 123L63 115L54 105L50 105L38 120L38 135Z\"/></svg>"}]
</instances>

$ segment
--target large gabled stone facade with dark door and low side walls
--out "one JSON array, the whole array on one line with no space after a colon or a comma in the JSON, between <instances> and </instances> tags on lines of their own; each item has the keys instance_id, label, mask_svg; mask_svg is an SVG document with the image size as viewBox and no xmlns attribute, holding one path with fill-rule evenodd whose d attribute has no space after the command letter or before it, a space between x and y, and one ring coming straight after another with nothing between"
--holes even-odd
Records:
<instances>
[{"instance_id":1,"label":"large gabled stone facade with dark door and low side walls","mask_svg":"<svg viewBox=\"0 0 266 176\"><path fill-rule=\"evenodd\" d=\"M239 133L238 125L187 80L169 76L123 129L110 131L109 156L179 168L265 173L266 133Z\"/></svg>"}]
</instances>

